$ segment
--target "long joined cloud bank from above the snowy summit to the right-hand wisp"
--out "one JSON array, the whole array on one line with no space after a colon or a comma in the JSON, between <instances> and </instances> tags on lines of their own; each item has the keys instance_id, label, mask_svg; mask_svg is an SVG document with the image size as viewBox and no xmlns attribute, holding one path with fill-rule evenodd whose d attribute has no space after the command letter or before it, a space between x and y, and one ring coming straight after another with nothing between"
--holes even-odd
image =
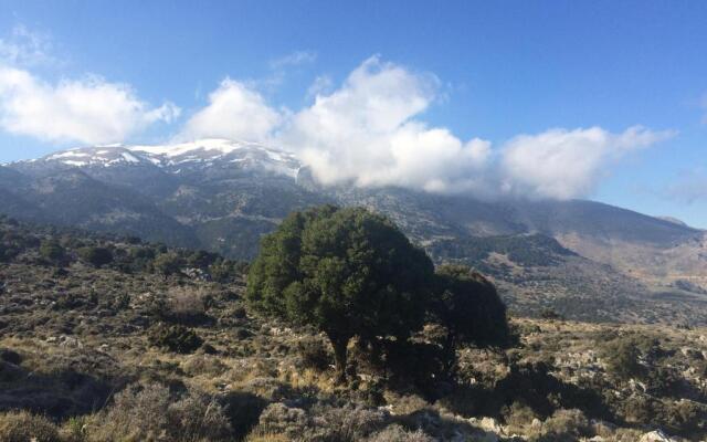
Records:
<instances>
[{"instance_id":1,"label":"long joined cloud bank from above the snowy summit to the right-hand wisp","mask_svg":"<svg viewBox=\"0 0 707 442\"><path fill-rule=\"evenodd\" d=\"M590 194L613 162L674 135L641 126L618 134L553 128L493 146L426 124L422 116L439 95L433 75L374 56L295 113L226 80L183 134L267 140L296 152L324 185L552 199Z\"/></svg>"}]
</instances>

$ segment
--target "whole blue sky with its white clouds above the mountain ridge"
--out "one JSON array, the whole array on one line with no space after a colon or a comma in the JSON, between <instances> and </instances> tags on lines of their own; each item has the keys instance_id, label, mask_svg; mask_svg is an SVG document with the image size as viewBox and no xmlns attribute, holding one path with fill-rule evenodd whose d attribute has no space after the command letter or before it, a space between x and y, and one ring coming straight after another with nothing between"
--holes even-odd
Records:
<instances>
[{"instance_id":1,"label":"whole blue sky with its white clouds above the mountain ridge","mask_svg":"<svg viewBox=\"0 0 707 442\"><path fill-rule=\"evenodd\" d=\"M707 2L0 0L0 162L218 137L325 183L707 229Z\"/></svg>"}]
</instances>

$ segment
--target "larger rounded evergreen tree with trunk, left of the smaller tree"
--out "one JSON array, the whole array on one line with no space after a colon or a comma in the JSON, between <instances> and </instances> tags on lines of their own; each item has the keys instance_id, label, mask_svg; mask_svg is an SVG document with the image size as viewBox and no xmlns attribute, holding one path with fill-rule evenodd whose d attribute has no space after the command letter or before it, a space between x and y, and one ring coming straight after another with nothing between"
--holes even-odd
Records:
<instances>
[{"instance_id":1,"label":"larger rounded evergreen tree with trunk, left of the smaller tree","mask_svg":"<svg viewBox=\"0 0 707 442\"><path fill-rule=\"evenodd\" d=\"M422 327L433 278L424 251L388 219L324 206L292 213L263 239L246 296L261 312L324 332L344 380L352 337L407 339Z\"/></svg>"}]
</instances>

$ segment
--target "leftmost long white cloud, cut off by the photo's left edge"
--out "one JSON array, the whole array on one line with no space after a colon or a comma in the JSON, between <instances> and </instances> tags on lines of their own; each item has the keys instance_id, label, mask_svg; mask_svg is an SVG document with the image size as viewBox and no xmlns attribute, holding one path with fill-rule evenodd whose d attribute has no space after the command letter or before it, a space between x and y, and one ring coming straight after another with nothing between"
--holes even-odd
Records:
<instances>
[{"instance_id":1,"label":"leftmost long white cloud, cut off by the photo's left edge","mask_svg":"<svg viewBox=\"0 0 707 442\"><path fill-rule=\"evenodd\" d=\"M30 72L0 65L0 127L48 141L123 141L179 108L151 108L130 87L98 76L49 84Z\"/></svg>"}]
</instances>

